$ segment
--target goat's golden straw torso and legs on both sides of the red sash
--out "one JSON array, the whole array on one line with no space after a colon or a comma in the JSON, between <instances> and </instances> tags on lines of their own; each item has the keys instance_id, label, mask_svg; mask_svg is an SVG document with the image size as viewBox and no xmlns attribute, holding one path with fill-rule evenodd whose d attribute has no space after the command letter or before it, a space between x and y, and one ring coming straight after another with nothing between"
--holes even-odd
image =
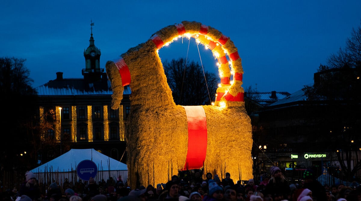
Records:
<instances>
[{"instance_id":1,"label":"goat's golden straw torso and legs on both sides of the red sash","mask_svg":"<svg viewBox=\"0 0 361 201\"><path fill-rule=\"evenodd\" d=\"M245 169L252 170L252 163L249 163L252 128L247 121L238 121L244 112L238 107L223 110L212 106L203 108L208 131L204 169L219 175L229 172L232 178L238 178L243 171L242 178L252 178L252 171ZM247 118L242 116L242 119ZM130 170L129 180L137 180L142 185L153 184L154 176L155 184L166 183L184 167L188 125L182 106L157 111L139 109L130 116L127 125L127 146L132 150L128 154L128 164L136 168Z\"/></svg>"}]
</instances>

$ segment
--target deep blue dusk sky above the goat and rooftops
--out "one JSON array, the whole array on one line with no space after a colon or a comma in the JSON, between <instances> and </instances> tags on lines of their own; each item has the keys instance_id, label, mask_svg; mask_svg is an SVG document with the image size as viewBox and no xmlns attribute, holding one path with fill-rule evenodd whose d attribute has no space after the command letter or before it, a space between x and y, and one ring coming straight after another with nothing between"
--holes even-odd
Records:
<instances>
[{"instance_id":1,"label":"deep blue dusk sky above the goat and rooftops","mask_svg":"<svg viewBox=\"0 0 361 201\"><path fill-rule=\"evenodd\" d=\"M3 0L0 57L26 59L33 87L56 79L56 72L82 78L91 20L101 68L168 25L197 21L234 42L242 58L244 88L294 93L312 84L319 65L344 48L352 28L360 26L361 1ZM191 43L188 59L200 63ZM184 39L159 54L162 61L185 58L187 47ZM205 70L218 75L212 52L200 49Z\"/></svg>"}]
</instances>

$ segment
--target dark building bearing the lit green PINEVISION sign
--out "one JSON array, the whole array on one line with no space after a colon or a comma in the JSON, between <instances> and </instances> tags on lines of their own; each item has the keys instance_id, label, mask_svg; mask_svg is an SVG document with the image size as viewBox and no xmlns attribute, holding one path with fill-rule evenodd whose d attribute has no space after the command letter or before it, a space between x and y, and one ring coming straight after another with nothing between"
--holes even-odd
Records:
<instances>
[{"instance_id":1,"label":"dark building bearing the lit green PINEVISION sign","mask_svg":"<svg viewBox=\"0 0 361 201\"><path fill-rule=\"evenodd\" d=\"M361 104L349 100L308 100L303 90L256 112L253 128L254 173L280 167L297 182L312 168L349 181L342 170L359 169ZM360 177L360 171L355 172ZM335 181L328 181L334 184Z\"/></svg>"}]
</instances>

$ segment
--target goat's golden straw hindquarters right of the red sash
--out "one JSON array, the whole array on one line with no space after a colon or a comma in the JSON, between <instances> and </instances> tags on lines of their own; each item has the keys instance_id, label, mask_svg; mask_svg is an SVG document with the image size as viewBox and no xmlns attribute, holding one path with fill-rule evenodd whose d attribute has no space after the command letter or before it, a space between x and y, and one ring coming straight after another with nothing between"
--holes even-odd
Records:
<instances>
[{"instance_id":1,"label":"goat's golden straw hindquarters right of the red sash","mask_svg":"<svg viewBox=\"0 0 361 201\"><path fill-rule=\"evenodd\" d=\"M218 110L204 106L207 116L208 145L205 169L219 178L231 174L236 182L239 178L252 176L252 126L244 109L229 107ZM242 175L240 175L242 173Z\"/></svg>"}]
</instances>

